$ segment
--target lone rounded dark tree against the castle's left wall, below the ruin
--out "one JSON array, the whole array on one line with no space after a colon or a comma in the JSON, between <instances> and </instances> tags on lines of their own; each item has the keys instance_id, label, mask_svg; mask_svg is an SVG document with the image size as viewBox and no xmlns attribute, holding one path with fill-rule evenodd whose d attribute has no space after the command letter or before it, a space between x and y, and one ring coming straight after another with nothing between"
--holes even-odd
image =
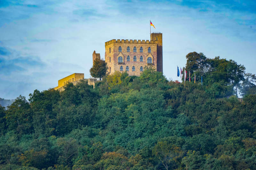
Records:
<instances>
[{"instance_id":1,"label":"lone rounded dark tree against the castle's left wall, below the ruin","mask_svg":"<svg viewBox=\"0 0 256 170\"><path fill-rule=\"evenodd\" d=\"M90 74L92 77L101 78L106 75L108 70L107 63L104 60L96 58L93 61L92 68L90 69Z\"/></svg>"}]
</instances>

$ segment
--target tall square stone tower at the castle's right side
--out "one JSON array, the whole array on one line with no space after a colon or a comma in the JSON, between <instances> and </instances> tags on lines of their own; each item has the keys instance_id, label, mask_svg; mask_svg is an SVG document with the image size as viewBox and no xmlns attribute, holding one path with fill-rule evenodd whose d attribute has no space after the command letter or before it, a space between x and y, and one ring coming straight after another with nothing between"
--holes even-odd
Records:
<instances>
[{"instance_id":1,"label":"tall square stone tower at the castle's right side","mask_svg":"<svg viewBox=\"0 0 256 170\"><path fill-rule=\"evenodd\" d=\"M156 71L163 72L163 34L151 33L150 41L155 41L157 44L157 66Z\"/></svg>"}]
</instances>

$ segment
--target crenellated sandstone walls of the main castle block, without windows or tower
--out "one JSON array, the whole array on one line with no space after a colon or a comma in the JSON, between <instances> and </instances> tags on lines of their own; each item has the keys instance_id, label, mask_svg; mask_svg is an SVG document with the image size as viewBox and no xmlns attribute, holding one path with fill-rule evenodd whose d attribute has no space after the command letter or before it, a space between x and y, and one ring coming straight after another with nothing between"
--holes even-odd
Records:
<instances>
[{"instance_id":1,"label":"crenellated sandstone walls of the main castle block, without windows or tower","mask_svg":"<svg viewBox=\"0 0 256 170\"><path fill-rule=\"evenodd\" d=\"M140 76L140 67L154 66L157 67L157 44L153 41L136 41L136 40L112 40L113 43L105 43L105 61L108 63L108 72L110 74L114 71L121 71L120 67L123 66L123 71L126 71L126 66L129 67L127 73L130 76ZM119 52L118 48L122 48L122 52ZM127 52L127 47L130 47L130 52ZM133 48L136 47L137 51L133 52ZM140 52L140 47L143 48L143 52ZM151 52L148 53L148 47L151 48ZM109 52L109 48L111 49ZM130 61L127 61L127 56L130 56ZM123 57L123 63L118 63L118 57ZM136 61L133 57L136 56ZM140 61L140 56L143 57L143 61ZM147 63L148 57L152 58L152 64ZM132 67L135 67L135 71L132 71ZM111 71L110 71L111 70ZM121 71L121 72L123 72Z\"/></svg>"}]
</instances>

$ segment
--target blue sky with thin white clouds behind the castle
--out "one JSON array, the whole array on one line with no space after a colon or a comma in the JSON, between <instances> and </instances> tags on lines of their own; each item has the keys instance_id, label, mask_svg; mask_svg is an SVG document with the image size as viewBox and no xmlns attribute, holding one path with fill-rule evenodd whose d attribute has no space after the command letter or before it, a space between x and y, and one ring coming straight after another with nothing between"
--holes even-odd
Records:
<instances>
[{"instance_id":1,"label":"blue sky with thin white clouds behind the castle","mask_svg":"<svg viewBox=\"0 0 256 170\"><path fill-rule=\"evenodd\" d=\"M235 60L255 74L255 0L0 0L0 98L28 99L72 73L90 78L92 53L112 39L163 33L163 74L177 78L189 52Z\"/></svg>"}]
</instances>

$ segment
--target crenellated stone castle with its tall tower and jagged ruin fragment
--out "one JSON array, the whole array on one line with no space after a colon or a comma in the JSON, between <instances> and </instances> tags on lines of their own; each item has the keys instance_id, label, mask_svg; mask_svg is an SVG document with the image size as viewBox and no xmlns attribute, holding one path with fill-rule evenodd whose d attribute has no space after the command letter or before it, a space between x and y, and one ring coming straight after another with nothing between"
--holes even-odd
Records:
<instances>
[{"instance_id":1,"label":"crenellated stone castle with its tall tower and jagged ruin fragment","mask_svg":"<svg viewBox=\"0 0 256 170\"><path fill-rule=\"evenodd\" d=\"M151 33L150 41L113 39L105 42L108 74L127 71L130 76L140 76L145 66L154 66L157 71L163 72L162 41L162 33Z\"/></svg>"}]
</instances>

